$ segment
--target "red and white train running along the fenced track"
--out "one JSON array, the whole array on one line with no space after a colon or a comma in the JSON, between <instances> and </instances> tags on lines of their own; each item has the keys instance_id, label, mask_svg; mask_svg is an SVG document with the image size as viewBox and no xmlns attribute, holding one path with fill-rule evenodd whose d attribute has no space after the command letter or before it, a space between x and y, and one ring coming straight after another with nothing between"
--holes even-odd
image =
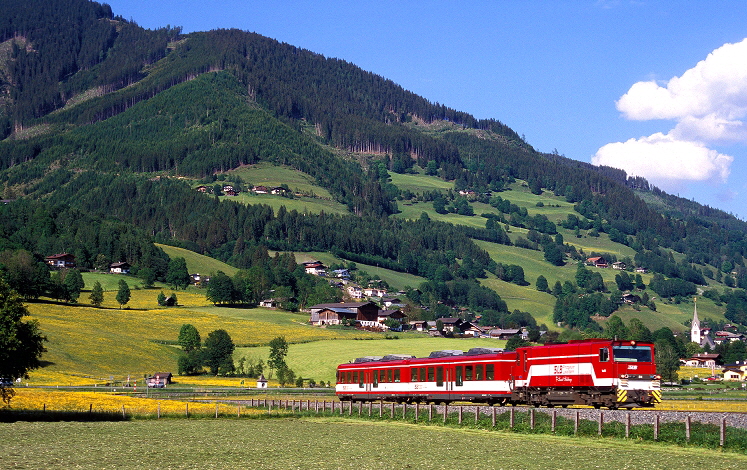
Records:
<instances>
[{"instance_id":1,"label":"red and white train running along the fenced track","mask_svg":"<svg viewBox=\"0 0 747 470\"><path fill-rule=\"evenodd\" d=\"M344 401L650 407L661 401L654 345L589 339L517 348L358 358L337 368Z\"/></svg>"}]
</instances>

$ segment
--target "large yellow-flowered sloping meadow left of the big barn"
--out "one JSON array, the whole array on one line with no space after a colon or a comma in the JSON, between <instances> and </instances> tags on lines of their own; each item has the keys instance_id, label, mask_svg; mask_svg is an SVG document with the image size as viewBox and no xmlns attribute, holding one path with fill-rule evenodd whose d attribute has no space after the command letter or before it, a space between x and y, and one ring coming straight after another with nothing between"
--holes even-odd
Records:
<instances>
[{"instance_id":1,"label":"large yellow-flowered sloping meadow left of the big barn","mask_svg":"<svg viewBox=\"0 0 747 470\"><path fill-rule=\"evenodd\" d=\"M332 330L307 325L308 315L263 308L212 306L202 294L179 291L180 306L160 308L158 290L133 290L128 306L120 310L112 292L103 308L56 302L28 304L48 338L45 367L33 371L31 384L82 385L115 376L142 377L156 371L176 371L179 328L194 325L203 341L208 333L226 330L237 345L267 344L276 336L289 342L328 339L380 338L376 333ZM266 359L266 358L265 358Z\"/></svg>"}]
</instances>

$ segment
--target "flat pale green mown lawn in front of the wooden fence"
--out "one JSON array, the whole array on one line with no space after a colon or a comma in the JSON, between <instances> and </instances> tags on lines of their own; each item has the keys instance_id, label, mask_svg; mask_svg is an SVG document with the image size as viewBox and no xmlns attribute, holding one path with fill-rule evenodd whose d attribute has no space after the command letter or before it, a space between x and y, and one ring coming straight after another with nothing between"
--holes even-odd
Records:
<instances>
[{"instance_id":1,"label":"flat pale green mown lawn in front of the wooden fence","mask_svg":"<svg viewBox=\"0 0 747 470\"><path fill-rule=\"evenodd\" d=\"M342 418L0 424L18 468L745 468L736 453ZM403 439L412 445L399 446ZM465 443L469 443L466 445ZM470 450L471 449L471 450Z\"/></svg>"}]
</instances>

